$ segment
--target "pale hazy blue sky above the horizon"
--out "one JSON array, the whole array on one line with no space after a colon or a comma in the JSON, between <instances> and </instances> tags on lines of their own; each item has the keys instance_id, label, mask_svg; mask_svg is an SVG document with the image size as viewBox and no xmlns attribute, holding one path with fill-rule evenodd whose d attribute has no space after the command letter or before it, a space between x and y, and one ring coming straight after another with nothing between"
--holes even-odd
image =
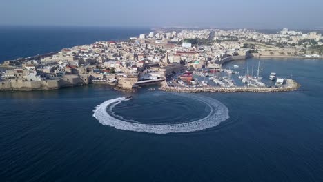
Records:
<instances>
[{"instance_id":1,"label":"pale hazy blue sky above the horizon","mask_svg":"<svg viewBox=\"0 0 323 182\"><path fill-rule=\"evenodd\" d=\"M0 25L323 28L323 0L0 0Z\"/></svg>"}]
</instances>

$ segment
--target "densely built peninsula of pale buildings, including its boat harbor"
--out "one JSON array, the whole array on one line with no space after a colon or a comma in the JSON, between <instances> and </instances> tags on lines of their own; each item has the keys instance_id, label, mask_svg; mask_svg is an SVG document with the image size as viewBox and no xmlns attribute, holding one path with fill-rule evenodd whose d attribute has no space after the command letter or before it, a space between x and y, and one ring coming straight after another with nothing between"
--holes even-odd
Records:
<instances>
[{"instance_id":1,"label":"densely built peninsula of pale buildings, including its boat harbor","mask_svg":"<svg viewBox=\"0 0 323 182\"><path fill-rule=\"evenodd\" d=\"M259 66L257 77L243 73L239 75L243 84L237 85L231 74L239 73L222 65L249 57L323 59L322 55L323 37L317 32L155 29L127 41L99 41L3 61L0 90L54 90L94 83L126 91L160 84L161 90L171 92L282 92L300 85L286 78L265 84Z\"/></svg>"}]
</instances>

